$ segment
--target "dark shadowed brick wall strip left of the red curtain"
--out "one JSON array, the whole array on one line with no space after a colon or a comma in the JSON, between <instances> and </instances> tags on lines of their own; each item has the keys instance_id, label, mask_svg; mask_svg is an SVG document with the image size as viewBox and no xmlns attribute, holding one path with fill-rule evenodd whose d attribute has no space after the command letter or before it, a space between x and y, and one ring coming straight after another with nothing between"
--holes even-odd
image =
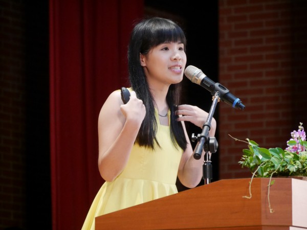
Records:
<instances>
[{"instance_id":1,"label":"dark shadowed brick wall strip left of the red curtain","mask_svg":"<svg viewBox=\"0 0 307 230\"><path fill-rule=\"evenodd\" d=\"M25 221L25 45L20 1L0 1L0 228Z\"/></svg>"}]
</instances>

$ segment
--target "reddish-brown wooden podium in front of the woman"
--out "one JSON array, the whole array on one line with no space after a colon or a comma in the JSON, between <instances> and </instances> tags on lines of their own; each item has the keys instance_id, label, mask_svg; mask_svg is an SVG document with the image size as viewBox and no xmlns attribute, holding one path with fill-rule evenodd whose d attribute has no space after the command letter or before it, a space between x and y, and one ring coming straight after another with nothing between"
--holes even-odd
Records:
<instances>
[{"instance_id":1,"label":"reddish-brown wooden podium in front of the woman","mask_svg":"<svg viewBox=\"0 0 307 230\"><path fill-rule=\"evenodd\" d=\"M307 229L307 181L274 178L228 179L186 190L95 219L100 229Z\"/></svg>"}]
</instances>

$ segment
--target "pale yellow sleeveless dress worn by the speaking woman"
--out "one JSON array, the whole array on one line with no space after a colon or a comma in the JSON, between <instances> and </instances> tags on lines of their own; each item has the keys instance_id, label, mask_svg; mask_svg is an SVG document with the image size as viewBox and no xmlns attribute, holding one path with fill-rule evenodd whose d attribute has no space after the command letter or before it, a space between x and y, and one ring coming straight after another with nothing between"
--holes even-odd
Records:
<instances>
[{"instance_id":1,"label":"pale yellow sleeveless dress worn by the speaking woman","mask_svg":"<svg viewBox=\"0 0 307 230\"><path fill-rule=\"evenodd\" d=\"M168 117L169 117L168 111ZM156 118L159 122L158 112ZM98 191L82 230L95 229L95 217L178 193L176 179L182 149L173 145L170 127L158 124L155 150L134 145L126 168Z\"/></svg>"}]
</instances>

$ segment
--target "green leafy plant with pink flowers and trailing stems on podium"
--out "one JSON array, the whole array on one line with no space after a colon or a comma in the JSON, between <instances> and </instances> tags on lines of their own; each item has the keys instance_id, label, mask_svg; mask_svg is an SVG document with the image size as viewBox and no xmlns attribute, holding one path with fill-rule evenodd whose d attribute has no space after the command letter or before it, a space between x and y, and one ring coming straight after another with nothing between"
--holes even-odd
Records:
<instances>
[{"instance_id":1,"label":"green leafy plant with pink flowers and trailing stems on podium","mask_svg":"<svg viewBox=\"0 0 307 230\"><path fill-rule=\"evenodd\" d=\"M232 137L232 136L231 136ZM243 149L243 156L238 162L242 167L247 167L252 172L250 181L250 195L245 196L251 198L251 184L254 177L269 177L268 196L270 194L270 186L275 180L272 177L279 176L301 176L307 177L307 141L306 133L302 123L298 126L298 130L291 132L291 139L287 142L287 148L261 148L259 145L249 139L241 141L248 144L248 149ZM269 197L268 197L269 199ZM270 205L270 212L273 212Z\"/></svg>"}]
</instances>

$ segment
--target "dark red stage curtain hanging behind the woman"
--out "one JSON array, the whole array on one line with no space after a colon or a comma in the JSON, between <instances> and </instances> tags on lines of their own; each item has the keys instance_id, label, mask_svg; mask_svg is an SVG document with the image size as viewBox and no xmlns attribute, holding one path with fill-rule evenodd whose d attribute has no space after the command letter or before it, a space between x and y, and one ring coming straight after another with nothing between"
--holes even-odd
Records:
<instances>
[{"instance_id":1,"label":"dark red stage curtain hanging behind the woman","mask_svg":"<svg viewBox=\"0 0 307 230\"><path fill-rule=\"evenodd\" d=\"M107 96L126 86L126 51L143 0L50 0L52 222L80 229L104 182L97 120Z\"/></svg>"}]
</instances>

